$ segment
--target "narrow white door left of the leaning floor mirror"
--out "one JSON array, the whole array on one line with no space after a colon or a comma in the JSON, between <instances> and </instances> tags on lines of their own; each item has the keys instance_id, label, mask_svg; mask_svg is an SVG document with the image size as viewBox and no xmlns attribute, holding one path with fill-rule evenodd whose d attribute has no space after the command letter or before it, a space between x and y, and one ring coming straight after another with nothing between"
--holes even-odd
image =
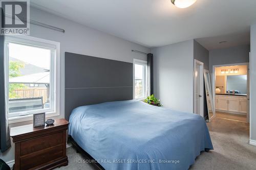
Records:
<instances>
[{"instance_id":1,"label":"narrow white door left of the leaning floor mirror","mask_svg":"<svg viewBox=\"0 0 256 170\"><path fill-rule=\"evenodd\" d=\"M203 63L195 60L195 114L204 116Z\"/></svg>"}]
</instances>

